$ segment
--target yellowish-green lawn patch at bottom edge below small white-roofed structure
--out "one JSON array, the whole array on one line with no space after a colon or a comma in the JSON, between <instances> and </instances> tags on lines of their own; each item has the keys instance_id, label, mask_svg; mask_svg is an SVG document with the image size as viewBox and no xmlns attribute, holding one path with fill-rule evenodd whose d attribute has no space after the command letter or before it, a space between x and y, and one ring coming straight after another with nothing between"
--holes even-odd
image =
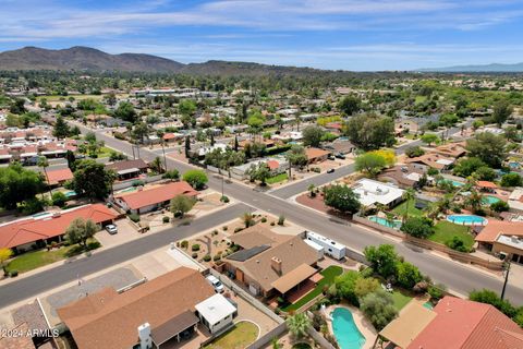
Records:
<instances>
[{"instance_id":1,"label":"yellowish-green lawn patch at bottom edge below small white-roofed structure","mask_svg":"<svg viewBox=\"0 0 523 349\"><path fill-rule=\"evenodd\" d=\"M242 321L235 324L232 329L205 346L204 349L243 349L258 338L258 326L251 322Z\"/></svg>"}]
</instances>

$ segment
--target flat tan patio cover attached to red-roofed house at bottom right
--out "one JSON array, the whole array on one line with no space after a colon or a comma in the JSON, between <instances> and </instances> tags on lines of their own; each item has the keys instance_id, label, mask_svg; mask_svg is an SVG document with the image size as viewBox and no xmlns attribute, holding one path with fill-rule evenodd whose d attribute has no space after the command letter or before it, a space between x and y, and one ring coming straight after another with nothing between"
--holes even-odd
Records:
<instances>
[{"instance_id":1,"label":"flat tan patio cover attached to red-roofed house at bottom right","mask_svg":"<svg viewBox=\"0 0 523 349\"><path fill-rule=\"evenodd\" d=\"M408 348L436 315L435 311L411 301L403 308L400 316L381 329L379 335L400 348Z\"/></svg>"}]
</instances>

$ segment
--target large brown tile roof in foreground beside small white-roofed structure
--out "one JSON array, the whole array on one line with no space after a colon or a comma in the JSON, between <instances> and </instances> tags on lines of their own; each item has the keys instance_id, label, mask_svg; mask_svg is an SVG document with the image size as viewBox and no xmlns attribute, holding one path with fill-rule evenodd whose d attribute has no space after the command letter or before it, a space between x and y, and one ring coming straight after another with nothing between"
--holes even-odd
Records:
<instances>
[{"instance_id":1,"label":"large brown tile roof in foreground beside small white-roofed structure","mask_svg":"<svg viewBox=\"0 0 523 349\"><path fill-rule=\"evenodd\" d=\"M202 274L180 267L120 294L105 289L58 314L81 349L129 349L138 341L139 325L147 322L154 332L212 294Z\"/></svg>"}]
</instances>

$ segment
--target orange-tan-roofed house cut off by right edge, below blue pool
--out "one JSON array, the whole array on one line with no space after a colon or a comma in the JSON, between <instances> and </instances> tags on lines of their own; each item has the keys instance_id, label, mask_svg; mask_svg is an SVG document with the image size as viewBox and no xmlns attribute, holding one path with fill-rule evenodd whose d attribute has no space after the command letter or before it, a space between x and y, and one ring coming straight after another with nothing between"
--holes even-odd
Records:
<instances>
[{"instance_id":1,"label":"orange-tan-roofed house cut off by right edge, below blue pool","mask_svg":"<svg viewBox=\"0 0 523 349\"><path fill-rule=\"evenodd\" d=\"M523 264L523 222L489 219L476 239L494 254Z\"/></svg>"}]
</instances>

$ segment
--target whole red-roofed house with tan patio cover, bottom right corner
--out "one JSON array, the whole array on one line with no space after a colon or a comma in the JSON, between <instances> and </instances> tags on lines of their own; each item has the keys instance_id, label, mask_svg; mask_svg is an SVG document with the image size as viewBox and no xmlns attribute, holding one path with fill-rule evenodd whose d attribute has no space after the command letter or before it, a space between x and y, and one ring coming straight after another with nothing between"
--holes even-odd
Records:
<instances>
[{"instance_id":1,"label":"whole red-roofed house with tan patio cover, bottom right corner","mask_svg":"<svg viewBox=\"0 0 523 349\"><path fill-rule=\"evenodd\" d=\"M499 310L449 296L434 310L410 302L379 337L384 348L523 348L523 329Z\"/></svg>"}]
</instances>

